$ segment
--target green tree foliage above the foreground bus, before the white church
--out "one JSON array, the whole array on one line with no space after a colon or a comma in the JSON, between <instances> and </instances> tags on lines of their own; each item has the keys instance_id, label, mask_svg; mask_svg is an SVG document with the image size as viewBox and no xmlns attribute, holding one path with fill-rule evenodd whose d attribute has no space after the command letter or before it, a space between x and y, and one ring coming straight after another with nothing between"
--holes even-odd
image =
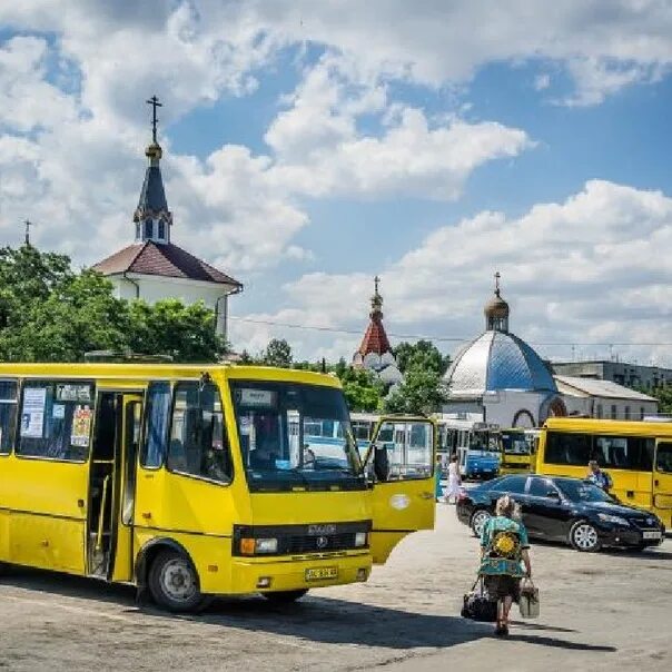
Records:
<instances>
[{"instance_id":1,"label":"green tree foliage above the foreground bus, before the white church","mask_svg":"<svg viewBox=\"0 0 672 672\"><path fill-rule=\"evenodd\" d=\"M75 273L63 255L0 249L0 360L81 362L100 349L215 362L225 344L202 304L128 304L100 274Z\"/></svg>"}]
</instances>

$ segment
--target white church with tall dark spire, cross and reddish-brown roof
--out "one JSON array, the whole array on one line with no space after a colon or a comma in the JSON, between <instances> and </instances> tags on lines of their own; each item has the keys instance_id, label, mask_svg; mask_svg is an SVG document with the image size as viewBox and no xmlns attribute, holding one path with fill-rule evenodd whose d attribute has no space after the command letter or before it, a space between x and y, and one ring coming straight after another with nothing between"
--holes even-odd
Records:
<instances>
[{"instance_id":1,"label":"white church with tall dark spire, cross and reddish-brown roof","mask_svg":"<svg viewBox=\"0 0 672 672\"><path fill-rule=\"evenodd\" d=\"M152 141L145 150L148 166L132 216L135 241L93 266L111 280L115 294L125 299L144 299L155 304L178 298L186 305L202 302L215 312L217 333L227 338L229 297L243 291L243 284L210 266L171 241L172 214L168 209L157 141L156 96L152 106Z\"/></svg>"}]
</instances>

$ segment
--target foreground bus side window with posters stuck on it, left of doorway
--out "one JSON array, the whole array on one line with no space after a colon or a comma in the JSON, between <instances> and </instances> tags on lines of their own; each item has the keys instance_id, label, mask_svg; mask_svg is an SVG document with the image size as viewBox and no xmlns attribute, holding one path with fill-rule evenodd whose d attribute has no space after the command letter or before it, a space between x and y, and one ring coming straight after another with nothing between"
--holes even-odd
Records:
<instances>
[{"instance_id":1,"label":"foreground bus side window with posters stuck on it, left of doorway","mask_svg":"<svg viewBox=\"0 0 672 672\"><path fill-rule=\"evenodd\" d=\"M63 394L63 388L73 392ZM29 381L21 399L17 455L85 462L91 443L93 385Z\"/></svg>"}]
</instances>

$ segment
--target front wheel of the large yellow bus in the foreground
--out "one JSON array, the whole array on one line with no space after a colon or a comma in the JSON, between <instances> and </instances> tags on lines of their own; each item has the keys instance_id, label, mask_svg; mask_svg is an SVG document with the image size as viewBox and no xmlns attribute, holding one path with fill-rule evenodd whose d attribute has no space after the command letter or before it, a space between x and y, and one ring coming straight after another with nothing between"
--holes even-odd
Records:
<instances>
[{"instance_id":1,"label":"front wheel of the large yellow bus in the foreground","mask_svg":"<svg viewBox=\"0 0 672 672\"><path fill-rule=\"evenodd\" d=\"M200 606L202 595L191 561L176 551L161 551L149 567L149 592L168 611L188 612Z\"/></svg>"}]
</instances>

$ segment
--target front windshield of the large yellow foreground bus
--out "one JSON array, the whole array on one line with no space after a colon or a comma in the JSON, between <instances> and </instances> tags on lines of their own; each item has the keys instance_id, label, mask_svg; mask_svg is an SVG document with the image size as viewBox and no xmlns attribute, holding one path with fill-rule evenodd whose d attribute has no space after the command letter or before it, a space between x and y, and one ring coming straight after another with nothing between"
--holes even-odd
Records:
<instances>
[{"instance_id":1,"label":"front windshield of the large yellow foreground bus","mask_svg":"<svg viewBox=\"0 0 672 672\"><path fill-rule=\"evenodd\" d=\"M231 383L253 492L366 487L343 392L297 383Z\"/></svg>"}]
</instances>

